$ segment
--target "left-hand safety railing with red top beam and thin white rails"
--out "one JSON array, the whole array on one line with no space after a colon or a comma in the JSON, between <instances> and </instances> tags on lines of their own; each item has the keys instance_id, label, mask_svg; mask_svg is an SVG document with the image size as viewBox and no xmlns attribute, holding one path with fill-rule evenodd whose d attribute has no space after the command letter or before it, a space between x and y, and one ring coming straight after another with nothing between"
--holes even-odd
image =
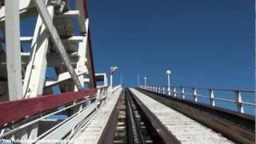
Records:
<instances>
[{"instance_id":1,"label":"left-hand safety railing with red top beam and thin white rails","mask_svg":"<svg viewBox=\"0 0 256 144\"><path fill-rule=\"evenodd\" d=\"M13 102L0 102L0 139L9 139L10 142L13 142L18 138L16 135L22 133L22 130L63 113L70 114L61 122L50 127L49 130L42 130L42 134L37 138L30 138L30 142L26 143L71 139L82 126L86 125L86 122L89 122L90 118L93 118L94 111L101 107L106 99L119 88L120 86L113 89L102 87Z\"/></svg>"}]
</instances>

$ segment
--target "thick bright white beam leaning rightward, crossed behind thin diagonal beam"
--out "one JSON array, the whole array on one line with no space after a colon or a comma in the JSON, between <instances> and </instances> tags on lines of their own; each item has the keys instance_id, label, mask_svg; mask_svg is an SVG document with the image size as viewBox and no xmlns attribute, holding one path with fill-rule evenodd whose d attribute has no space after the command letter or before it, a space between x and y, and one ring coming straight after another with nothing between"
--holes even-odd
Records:
<instances>
[{"instance_id":1,"label":"thick bright white beam leaning rightward, crossed behind thin diagonal beam","mask_svg":"<svg viewBox=\"0 0 256 144\"><path fill-rule=\"evenodd\" d=\"M43 2L43 1L42 1ZM47 6L46 11L51 18L54 17L54 6ZM31 44L31 58L26 67L26 74L23 83L23 96L34 98L42 94L46 78L46 53L49 45L49 34L43 24L42 17L38 20L34 29L34 38ZM35 139L38 136L38 123L33 124L22 134L22 139Z\"/></svg>"}]
</instances>

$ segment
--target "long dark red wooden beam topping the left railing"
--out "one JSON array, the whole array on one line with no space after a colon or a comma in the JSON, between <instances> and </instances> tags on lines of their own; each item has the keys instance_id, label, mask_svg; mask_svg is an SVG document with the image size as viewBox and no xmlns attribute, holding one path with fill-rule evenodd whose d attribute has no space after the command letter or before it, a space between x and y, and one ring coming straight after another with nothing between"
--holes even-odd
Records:
<instances>
[{"instance_id":1,"label":"long dark red wooden beam topping the left railing","mask_svg":"<svg viewBox=\"0 0 256 144\"><path fill-rule=\"evenodd\" d=\"M90 89L64 94L50 94L12 102L0 102L0 126L4 126L6 123L17 122L27 116L39 114L81 98L93 96L96 93L97 89Z\"/></svg>"}]
</instances>

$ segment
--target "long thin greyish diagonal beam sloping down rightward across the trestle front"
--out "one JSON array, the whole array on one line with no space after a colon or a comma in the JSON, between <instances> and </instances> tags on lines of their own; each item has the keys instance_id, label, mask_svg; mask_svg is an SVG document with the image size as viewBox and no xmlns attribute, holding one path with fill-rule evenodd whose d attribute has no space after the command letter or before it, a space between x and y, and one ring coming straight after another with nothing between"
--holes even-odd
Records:
<instances>
[{"instance_id":1,"label":"long thin greyish diagonal beam sloping down rightward across the trestle front","mask_svg":"<svg viewBox=\"0 0 256 144\"><path fill-rule=\"evenodd\" d=\"M45 3L42 0L33 0L33 2L37 7L40 16L42 17L42 20L46 25L46 29L48 30L48 33L54 42L54 46L60 54L62 61L65 63L66 69L69 71L75 86L77 86L78 90L83 90L82 84L79 81L78 76L75 74L74 68L71 66L68 55L66 54L66 50L62 44L61 38L58 35L58 31L54 26L53 20L50 17L48 10L46 9Z\"/></svg>"}]
</instances>

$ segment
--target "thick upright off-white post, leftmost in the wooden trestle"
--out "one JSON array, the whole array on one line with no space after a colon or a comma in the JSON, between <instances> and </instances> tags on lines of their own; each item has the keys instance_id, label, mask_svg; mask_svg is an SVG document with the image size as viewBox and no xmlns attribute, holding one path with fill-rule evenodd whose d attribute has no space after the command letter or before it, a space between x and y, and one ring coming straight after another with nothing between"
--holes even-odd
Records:
<instances>
[{"instance_id":1,"label":"thick upright off-white post, leftmost in the wooden trestle","mask_svg":"<svg viewBox=\"0 0 256 144\"><path fill-rule=\"evenodd\" d=\"M7 0L6 6L6 62L9 100L22 98L22 60L19 29L19 1Z\"/></svg>"}]
</instances>

